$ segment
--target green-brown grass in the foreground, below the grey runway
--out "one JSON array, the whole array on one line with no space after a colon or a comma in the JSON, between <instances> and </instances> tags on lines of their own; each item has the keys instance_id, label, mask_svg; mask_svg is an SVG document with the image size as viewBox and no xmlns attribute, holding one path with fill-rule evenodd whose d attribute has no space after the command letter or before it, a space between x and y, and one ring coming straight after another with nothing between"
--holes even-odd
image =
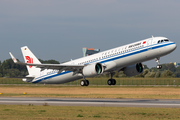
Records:
<instances>
[{"instance_id":1,"label":"green-brown grass in the foreground, below the grey runway","mask_svg":"<svg viewBox=\"0 0 180 120\"><path fill-rule=\"evenodd\" d=\"M0 105L6 120L177 120L179 108Z\"/></svg>"}]
</instances>

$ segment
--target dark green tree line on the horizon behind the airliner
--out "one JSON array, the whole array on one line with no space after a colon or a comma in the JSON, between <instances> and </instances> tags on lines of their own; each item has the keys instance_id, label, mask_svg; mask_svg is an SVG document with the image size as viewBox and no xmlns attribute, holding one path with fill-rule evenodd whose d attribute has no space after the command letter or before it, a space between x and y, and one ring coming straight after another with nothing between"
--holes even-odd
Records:
<instances>
[{"instance_id":1,"label":"dark green tree line on the horizon behind the airliner","mask_svg":"<svg viewBox=\"0 0 180 120\"><path fill-rule=\"evenodd\" d=\"M60 64L56 60L41 60L44 64ZM0 77L24 77L28 75L26 66L15 64L12 59L0 61ZM99 77L109 77L108 74ZM116 72L114 77L126 77L123 71ZM156 67L148 68L144 65L144 72L136 75L134 77L180 77L180 66L175 67L173 64L162 64L162 69L157 69Z\"/></svg>"}]
</instances>

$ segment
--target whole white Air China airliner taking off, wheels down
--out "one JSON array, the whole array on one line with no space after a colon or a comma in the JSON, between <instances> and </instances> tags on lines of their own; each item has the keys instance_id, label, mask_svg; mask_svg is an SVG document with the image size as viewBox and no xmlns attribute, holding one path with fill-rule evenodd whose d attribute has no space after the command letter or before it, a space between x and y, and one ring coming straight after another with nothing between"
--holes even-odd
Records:
<instances>
[{"instance_id":1,"label":"whole white Air China airliner taking off, wheels down","mask_svg":"<svg viewBox=\"0 0 180 120\"><path fill-rule=\"evenodd\" d=\"M23 78L24 82L61 84L78 79L81 86L88 86L86 77L94 77L109 73L111 78L108 85L115 85L113 79L115 71L124 71L127 76L135 76L143 72L142 62L155 59L157 68L161 69L159 59L176 49L176 44L165 37L153 37L128 45L120 46L90 56L82 57L63 64L41 64L27 46L21 48L25 63L18 62L10 53L17 64L26 65L29 75Z\"/></svg>"}]
</instances>

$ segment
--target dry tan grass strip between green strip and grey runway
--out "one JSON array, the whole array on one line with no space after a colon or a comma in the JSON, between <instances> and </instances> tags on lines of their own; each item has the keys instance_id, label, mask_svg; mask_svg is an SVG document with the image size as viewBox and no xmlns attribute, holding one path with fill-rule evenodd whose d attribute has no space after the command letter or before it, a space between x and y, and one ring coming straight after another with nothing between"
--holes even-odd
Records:
<instances>
[{"instance_id":1,"label":"dry tan grass strip between green strip and grey runway","mask_svg":"<svg viewBox=\"0 0 180 120\"><path fill-rule=\"evenodd\" d=\"M180 99L179 87L122 86L1 86L0 96ZM23 94L26 92L27 94Z\"/></svg>"}]
</instances>

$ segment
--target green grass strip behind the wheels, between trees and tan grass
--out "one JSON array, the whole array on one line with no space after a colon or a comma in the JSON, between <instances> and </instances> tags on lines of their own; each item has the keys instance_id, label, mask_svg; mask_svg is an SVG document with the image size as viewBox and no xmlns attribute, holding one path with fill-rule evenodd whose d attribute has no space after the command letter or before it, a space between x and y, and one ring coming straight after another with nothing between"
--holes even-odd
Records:
<instances>
[{"instance_id":1,"label":"green grass strip behind the wheels, between trees and tan grass","mask_svg":"<svg viewBox=\"0 0 180 120\"><path fill-rule=\"evenodd\" d=\"M89 80L89 85L107 85L108 78L87 78ZM115 78L116 85L180 85L180 78ZM12 78L1 78L0 84L31 84L23 82L21 79ZM59 85L80 85L80 80L69 82Z\"/></svg>"}]
</instances>

